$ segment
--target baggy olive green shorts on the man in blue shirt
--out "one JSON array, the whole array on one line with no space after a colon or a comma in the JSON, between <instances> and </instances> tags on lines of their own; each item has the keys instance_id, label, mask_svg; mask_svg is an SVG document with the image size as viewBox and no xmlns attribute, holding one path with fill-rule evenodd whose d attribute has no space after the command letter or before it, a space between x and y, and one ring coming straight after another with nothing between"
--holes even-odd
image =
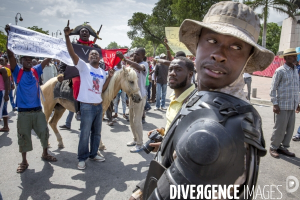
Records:
<instances>
[{"instance_id":1,"label":"baggy olive green shorts on the man in blue shirt","mask_svg":"<svg viewBox=\"0 0 300 200\"><path fill-rule=\"evenodd\" d=\"M19 152L32 150L31 129L40 139L41 146L43 148L48 146L49 128L42 110L18 112L16 127Z\"/></svg>"}]
</instances>

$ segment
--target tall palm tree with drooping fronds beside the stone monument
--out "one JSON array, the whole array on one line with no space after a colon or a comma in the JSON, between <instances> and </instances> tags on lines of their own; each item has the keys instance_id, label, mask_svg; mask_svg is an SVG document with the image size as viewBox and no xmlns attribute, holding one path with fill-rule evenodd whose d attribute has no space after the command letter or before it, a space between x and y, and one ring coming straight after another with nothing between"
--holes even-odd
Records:
<instances>
[{"instance_id":1,"label":"tall palm tree with drooping fronds beside the stone monument","mask_svg":"<svg viewBox=\"0 0 300 200\"><path fill-rule=\"evenodd\" d=\"M269 17L270 8L273 8L274 11L279 14L287 14L288 17L295 18L295 4L287 0L244 0L244 4L250 6L253 10L261 7L261 13L258 14L260 19L263 19L263 30L262 30L262 47L265 48L266 42L266 21Z\"/></svg>"}]
</instances>

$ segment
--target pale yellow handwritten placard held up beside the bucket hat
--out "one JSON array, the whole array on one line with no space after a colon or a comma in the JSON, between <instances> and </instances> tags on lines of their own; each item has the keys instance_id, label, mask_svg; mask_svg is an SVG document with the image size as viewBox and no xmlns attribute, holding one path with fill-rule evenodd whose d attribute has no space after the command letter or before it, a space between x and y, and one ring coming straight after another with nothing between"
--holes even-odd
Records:
<instances>
[{"instance_id":1,"label":"pale yellow handwritten placard held up beside the bucket hat","mask_svg":"<svg viewBox=\"0 0 300 200\"><path fill-rule=\"evenodd\" d=\"M179 41L179 27L164 27L165 36L167 38L167 44L176 53L177 51L183 51L186 55L192 55L186 46Z\"/></svg>"}]
</instances>

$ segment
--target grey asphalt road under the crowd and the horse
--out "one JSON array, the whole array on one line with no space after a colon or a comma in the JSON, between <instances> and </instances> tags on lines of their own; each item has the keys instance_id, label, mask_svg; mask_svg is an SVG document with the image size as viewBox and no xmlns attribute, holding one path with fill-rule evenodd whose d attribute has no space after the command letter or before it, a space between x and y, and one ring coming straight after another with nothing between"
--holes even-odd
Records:
<instances>
[{"instance_id":1,"label":"grey asphalt road under the crowd and the horse","mask_svg":"<svg viewBox=\"0 0 300 200\"><path fill-rule=\"evenodd\" d=\"M171 90L167 89L167 97ZM169 100L166 100L168 106ZM121 105L119 105L121 107ZM267 147L269 146L273 127L273 112L270 106L254 107L263 120L263 132ZM154 104L152 105L154 108ZM8 111L11 106L8 105ZM119 109L121 112L121 109ZM122 115L114 126L102 122L102 140L107 149L101 151L104 162L86 160L84 170L77 169L77 145L79 122L73 119L70 130L60 130L65 147L58 148L56 137L50 128L50 153L57 162L43 161L40 156L42 148L36 135L32 133L33 150L27 153L29 163L25 172L15 172L17 163L21 162L16 137L16 114L9 112L9 132L0 132L0 191L3 199L128 199L135 184L145 178L149 162L154 154L143 151L130 153L131 147L126 142L132 138L129 122ZM64 123L66 111L58 125ZM296 115L295 132L300 125L300 114ZM146 116L143 124L143 140L147 140L147 131L165 125L165 111L153 109ZM0 126L3 121L0 121ZM291 141L290 151L296 153L295 158L280 155L280 159L268 153L261 158L257 194L254 199L300 199L300 188L293 193L285 189L286 177L293 175L300 180L300 142ZM268 186L265 186L268 185ZM276 185L276 186L270 186ZM282 186L278 186L282 185ZM277 189L278 188L278 189ZM260 192L259 192L260 190ZM280 192L279 192L279 191ZM261 195L260 195L261 194ZM281 196L282 195L282 196Z\"/></svg>"}]
</instances>

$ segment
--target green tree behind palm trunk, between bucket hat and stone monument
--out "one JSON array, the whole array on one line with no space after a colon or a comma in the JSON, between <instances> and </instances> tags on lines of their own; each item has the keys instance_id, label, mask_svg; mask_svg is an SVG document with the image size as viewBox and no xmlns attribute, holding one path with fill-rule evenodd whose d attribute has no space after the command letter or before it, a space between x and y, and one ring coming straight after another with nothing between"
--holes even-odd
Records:
<instances>
[{"instance_id":1,"label":"green tree behind palm trunk, between bucket hat and stone monument","mask_svg":"<svg viewBox=\"0 0 300 200\"><path fill-rule=\"evenodd\" d=\"M261 43L262 41L262 28L263 24L260 25L260 34L257 43ZM281 26L278 26L277 23L267 23L266 24L267 32L266 32L266 42L265 47L276 55L279 48L280 34L281 34Z\"/></svg>"}]
</instances>

